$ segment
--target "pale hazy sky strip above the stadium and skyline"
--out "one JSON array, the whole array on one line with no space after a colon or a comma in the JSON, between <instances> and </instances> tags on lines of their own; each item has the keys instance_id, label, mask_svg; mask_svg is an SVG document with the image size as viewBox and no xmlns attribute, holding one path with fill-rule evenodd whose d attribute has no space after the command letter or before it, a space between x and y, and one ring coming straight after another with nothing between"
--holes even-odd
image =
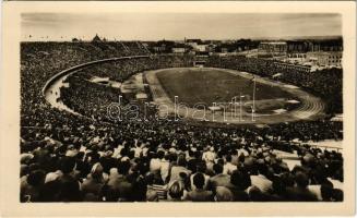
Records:
<instances>
[{"instance_id":1,"label":"pale hazy sky strip above the stadium and skyline","mask_svg":"<svg viewBox=\"0 0 357 218\"><path fill-rule=\"evenodd\" d=\"M325 13L24 13L22 40L284 38L342 35L340 14ZM29 37L31 35L31 37Z\"/></svg>"}]
</instances>

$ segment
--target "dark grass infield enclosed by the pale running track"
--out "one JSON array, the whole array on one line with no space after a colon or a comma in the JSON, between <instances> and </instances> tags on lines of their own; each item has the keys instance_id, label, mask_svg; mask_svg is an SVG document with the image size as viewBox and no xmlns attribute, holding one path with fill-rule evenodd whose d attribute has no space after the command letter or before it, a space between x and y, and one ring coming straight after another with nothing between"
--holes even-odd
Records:
<instances>
[{"instance_id":1,"label":"dark grass infield enclosed by the pale running track","mask_svg":"<svg viewBox=\"0 0 357 218\"><path fill-rule=\"evenodd\" d=\"M211 69L169 69L157 73L162 86L174 100L192 107L198 102L229 102L233 97L245 95L243 100L252 100L253 82L228 72ZM279 87L257 82L255 100L293 98Z\"/></svg>"}]
</instances>

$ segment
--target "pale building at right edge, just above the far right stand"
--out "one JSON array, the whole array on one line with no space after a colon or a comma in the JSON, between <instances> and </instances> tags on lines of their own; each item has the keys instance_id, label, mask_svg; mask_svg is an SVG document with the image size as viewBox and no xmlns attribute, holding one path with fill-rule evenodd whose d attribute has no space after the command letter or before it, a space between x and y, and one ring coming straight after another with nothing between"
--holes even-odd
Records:
<instances>
[{"instance_id":1,"label":"pale building at right edge, just above the far right stand","mask_svg":"<svg viewBox=\"0 0 357 218\"><path fill-rule=\"evenodd\" d=\"M306 53L307 60L320 66L341 66L341 51L312 51Z\"/></svg>"}]
</instances>

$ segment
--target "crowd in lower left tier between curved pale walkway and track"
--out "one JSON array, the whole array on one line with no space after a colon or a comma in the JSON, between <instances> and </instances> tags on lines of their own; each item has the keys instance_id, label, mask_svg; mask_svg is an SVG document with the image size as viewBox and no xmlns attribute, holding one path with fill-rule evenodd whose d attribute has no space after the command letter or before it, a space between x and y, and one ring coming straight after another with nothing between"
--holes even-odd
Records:
<instances>
[{"instance_id":1,"label":"crowd in lower left tier between curved pale walkway and track","mask_svg":"<svg viewBox=\"0 0 357 218\"><path fill-rule=\"evenodd\" d=\"M176 56L153 56L151 58L126 59L114 63L97 64L68 76L64 82L70 87L61 88L61 100L81 114L98 120L107 120L109 119L108 106L118 102L119 95L123 97L121 106L128 102L129 99L126 98L126 94L120 93L120 89L93 83L91 78L98 76L106 77L111 82L122 83L129 76L145 70L190 65L192 65L192 61L189 58Z\"/></svg>"}]
</instances>

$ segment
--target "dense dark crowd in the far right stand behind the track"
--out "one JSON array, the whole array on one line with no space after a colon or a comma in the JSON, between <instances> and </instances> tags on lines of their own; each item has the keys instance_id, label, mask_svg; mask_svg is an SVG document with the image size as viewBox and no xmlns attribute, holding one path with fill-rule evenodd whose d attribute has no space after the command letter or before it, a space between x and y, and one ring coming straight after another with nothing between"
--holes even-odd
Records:
<instances>
[{"instance_id":1,"label":"dense dark crowd in the far right stand behind the track","mask_svg":"<svg viewBox=\"0 0 357 218\"><path fill-rule=\"evenodd\" d=\"M214 68L246 71L260 76L295 84L321 96L328 104L328 113L342 113L342 69L324 69L306 72L301 68L284 68L284 64L279 64L273 60L246 58L242 56L213 56L207 59L205 64Z\"/></svg>"}]
</instances>

